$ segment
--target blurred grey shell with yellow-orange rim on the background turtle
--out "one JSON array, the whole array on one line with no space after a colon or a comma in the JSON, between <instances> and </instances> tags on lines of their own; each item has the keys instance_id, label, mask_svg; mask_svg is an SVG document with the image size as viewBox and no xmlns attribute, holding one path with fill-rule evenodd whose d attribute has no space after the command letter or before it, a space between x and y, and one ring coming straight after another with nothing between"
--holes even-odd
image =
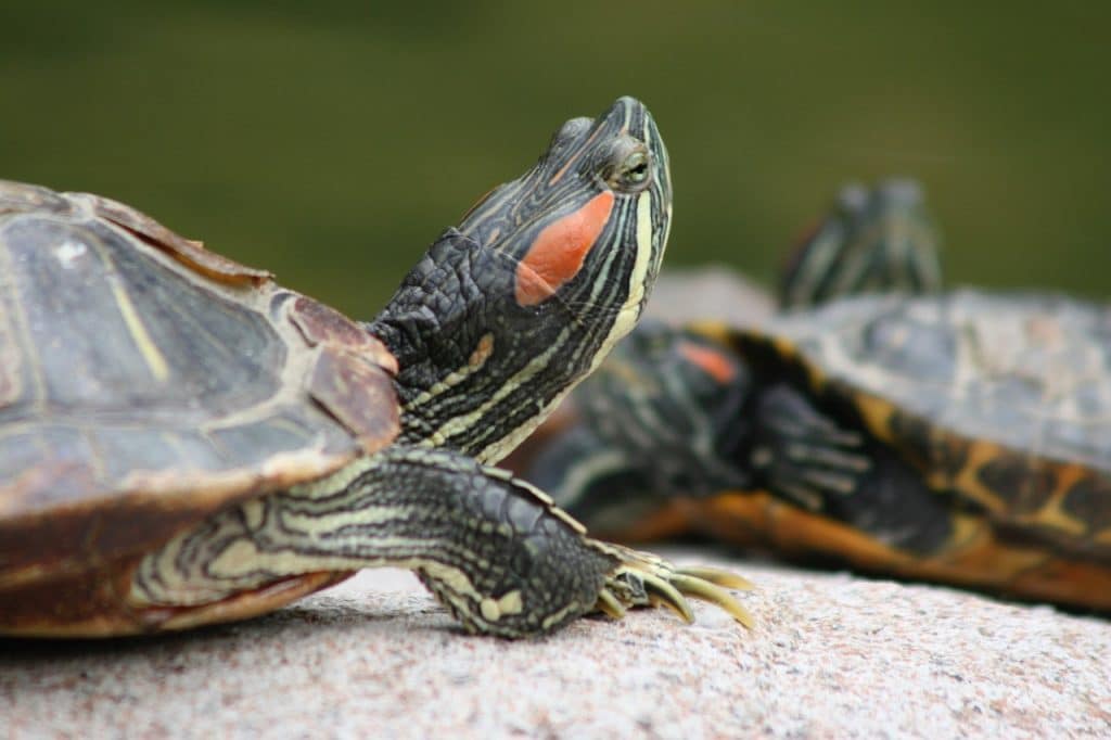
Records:
<instances>
[{"instance_id":1,"label":"blurred grey shell with yellow-orange rim on the background turtle","mask_svg":"<svg viewBox=\"0 0 1111 740\"><path fill-rule=\"evenodd\" d=\"M1111 307L871 296L732 339L915 463L957 509L1111 558Z\"/></svg>"}]
</instances>

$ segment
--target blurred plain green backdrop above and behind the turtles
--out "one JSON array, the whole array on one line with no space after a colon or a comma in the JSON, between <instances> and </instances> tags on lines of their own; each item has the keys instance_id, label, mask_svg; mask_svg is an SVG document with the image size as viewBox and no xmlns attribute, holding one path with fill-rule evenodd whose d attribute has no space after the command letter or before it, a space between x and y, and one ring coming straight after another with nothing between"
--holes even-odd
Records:
<instances>
[{"instance_id":1,"label":"blurred plain green backdrop above and behind the turtles","mask_svg":"<svg viewBox=\"0 0 1111 740\"><path fill-rule=\"evenodd\" d=\"M370 318L567 118L643 99L668 262L772 277L910 174L951 279L1108 296L1111 3L0 4L0 177L91 190Z\"/></svg>"}]
</instances>

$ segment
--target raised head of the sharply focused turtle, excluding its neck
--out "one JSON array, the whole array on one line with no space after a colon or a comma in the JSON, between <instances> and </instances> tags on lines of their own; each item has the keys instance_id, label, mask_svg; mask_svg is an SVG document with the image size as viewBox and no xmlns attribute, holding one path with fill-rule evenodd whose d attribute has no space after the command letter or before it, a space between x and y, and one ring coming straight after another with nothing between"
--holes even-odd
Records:
<instances>
[{"instance_id":1,"label":"raised head of the sharply focused turtle, excluding its neck","mask_svg":"<svg viewBox=\"0 0 1111 740\"><path fill-rule=\"evenodd\" d=\"M632 328L660 268L671 219L668 153L644 106L621 98L556 131L537 164L490 191L459 230L514 266L520 307L553 300L594 323ZM599 300L601 299L601 300Z\"/></svg>"}]
</instances>

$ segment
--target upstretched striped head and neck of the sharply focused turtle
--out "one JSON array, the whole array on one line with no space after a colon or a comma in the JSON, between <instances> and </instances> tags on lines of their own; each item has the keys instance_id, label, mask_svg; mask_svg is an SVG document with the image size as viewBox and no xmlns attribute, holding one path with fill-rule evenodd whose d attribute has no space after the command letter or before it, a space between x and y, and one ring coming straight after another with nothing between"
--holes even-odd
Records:
<instances>
[{"instance_id":1,"label":"upstretched striped head and neck of the sharply focused turtle","mask_svg":"<svg viewBox=\"0 0 1111 740\"><path fill-rule=\"evenodd\" d=\"M369 327L401 368L401 441L508 453L635 326L670 220L668 154L642 103L560 127Z\"/></svg>"}]
</instances>

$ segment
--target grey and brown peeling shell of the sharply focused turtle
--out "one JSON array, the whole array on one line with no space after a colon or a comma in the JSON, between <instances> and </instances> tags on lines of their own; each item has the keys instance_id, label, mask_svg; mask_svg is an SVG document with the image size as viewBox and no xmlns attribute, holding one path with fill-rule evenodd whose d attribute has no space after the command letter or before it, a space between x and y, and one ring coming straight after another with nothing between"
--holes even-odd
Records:
<instances>
[{"instance_id":1,"label":"grey and brown peeling shell of the sharply focused turtle","mask_svg":"<svg viewBox=\"0 0 1111 740\"><path fill-rule=\"evenodd\" d=\"M0 627L92 619L111 594L51 616L59 584L99 588L220 508L388 444L396 370L267 272L121 203L0 181Z\"/></svg>"}]
</instances>

